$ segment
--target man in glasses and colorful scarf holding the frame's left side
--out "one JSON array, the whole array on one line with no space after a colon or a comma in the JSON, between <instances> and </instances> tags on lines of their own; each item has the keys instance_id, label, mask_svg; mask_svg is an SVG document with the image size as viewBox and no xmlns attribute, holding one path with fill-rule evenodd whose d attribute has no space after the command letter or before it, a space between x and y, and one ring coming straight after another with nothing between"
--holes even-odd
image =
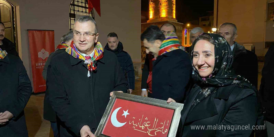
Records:
<instances>
[{"instance_id":1,"label":"man in glasses and colorful scarf holding the frame's left side","mask_svg":"<svg viewBox=\"0 0 274 137\"><path fill-rule=\"evenodd\" d=\"M48 67L49 98L61 121L61 136L95 137L113 91L127 91L116 55L103 50L98 36L92 17L79 17L73 44Z\"/></svg>"}]
</instances>

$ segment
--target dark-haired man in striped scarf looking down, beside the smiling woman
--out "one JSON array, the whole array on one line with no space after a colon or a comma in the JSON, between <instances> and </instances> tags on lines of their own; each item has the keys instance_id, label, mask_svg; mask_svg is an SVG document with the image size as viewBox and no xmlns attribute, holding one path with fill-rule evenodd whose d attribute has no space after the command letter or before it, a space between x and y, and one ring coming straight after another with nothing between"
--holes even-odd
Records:
<instances>
[{"instance_id":1,"label":"dark-haired man in striped scarf looking down, beside the smiling woman","mask_svg":"<svg viewBox=\"0 0 274 137\"><path fill-rule=\"evenodd\" d=\"M147 54L152 54L153 69L148 81L152 80L152 92L148 97L168 100L174 97L182 102L191 75L191 62L187 53L181 50L175 33L163 35L158 26L149 26L141 35Z\"/></svg>"}]
</instances>

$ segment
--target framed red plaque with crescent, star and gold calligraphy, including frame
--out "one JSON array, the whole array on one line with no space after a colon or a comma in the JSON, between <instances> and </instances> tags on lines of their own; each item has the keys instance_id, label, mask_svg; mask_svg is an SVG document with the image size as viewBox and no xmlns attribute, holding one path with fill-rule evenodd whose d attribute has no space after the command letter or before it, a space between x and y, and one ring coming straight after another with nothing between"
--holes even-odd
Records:
<instances>
[{"instance_id":1,"label":"framed red plaque with crescent, star and gold calligraphy, including frame","mask_svg":"<svg viewBox=\"0 0 274 137\"><path fill-rule=\"evenodd\" d=\"M183 104L114 92L97 137L175 137Z\"/></svg>"}]
</instances>

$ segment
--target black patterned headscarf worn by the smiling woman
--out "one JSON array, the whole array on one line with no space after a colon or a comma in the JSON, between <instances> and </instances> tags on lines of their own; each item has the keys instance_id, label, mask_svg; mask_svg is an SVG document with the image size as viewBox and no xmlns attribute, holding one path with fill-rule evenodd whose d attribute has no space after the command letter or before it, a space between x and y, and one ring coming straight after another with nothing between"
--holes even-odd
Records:
<instances>
[{"instance_id":1,"label":"black patterned headscarf worn by the smiling woman","mask_svg":"<svg viewBox=\"0 0 274 137\"><path fill-rule=\"evenodd\" d=\"M199 75L198 70L193 66L193 50L191 51L191 62L194 69L194 74L192 78L195 83L201 87L201 92L195 98L191 107L194 107L206 97L208 97L212 92L217 92L218 87L225 87L233 84L241 83L245 87L249 87L256 91L256 87L248 82L246 78L241 76L232 75L232 63L233 63L233 54L228 42L221 35L215 33L202 33L197 38L202 35L210 35L214 40L214 52L215 52L215 64L212 73L207 78L202 78ZM193 42L193 45L199 41L197 39ZM194 49L194 46L193 46Z\"/></svg>"}]
</instances>

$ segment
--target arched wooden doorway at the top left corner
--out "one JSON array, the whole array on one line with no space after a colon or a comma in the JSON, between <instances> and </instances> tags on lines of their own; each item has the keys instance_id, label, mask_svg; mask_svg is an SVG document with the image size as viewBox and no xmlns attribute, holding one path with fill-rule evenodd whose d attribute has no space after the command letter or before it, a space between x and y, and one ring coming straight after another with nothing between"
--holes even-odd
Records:
<instances>
[{"instance_id":1,"label":"arched wooden doorway at the top left corner","mask_svg":"<svg viewBox=\"0 0 274 137\"><path fill-rule=\"evenodd\" d=\"M5 25L5 38L15 43L18 52L15 29L15 6L5 0L0 0L0 21Z\"/></svg>"}]
</instances>

